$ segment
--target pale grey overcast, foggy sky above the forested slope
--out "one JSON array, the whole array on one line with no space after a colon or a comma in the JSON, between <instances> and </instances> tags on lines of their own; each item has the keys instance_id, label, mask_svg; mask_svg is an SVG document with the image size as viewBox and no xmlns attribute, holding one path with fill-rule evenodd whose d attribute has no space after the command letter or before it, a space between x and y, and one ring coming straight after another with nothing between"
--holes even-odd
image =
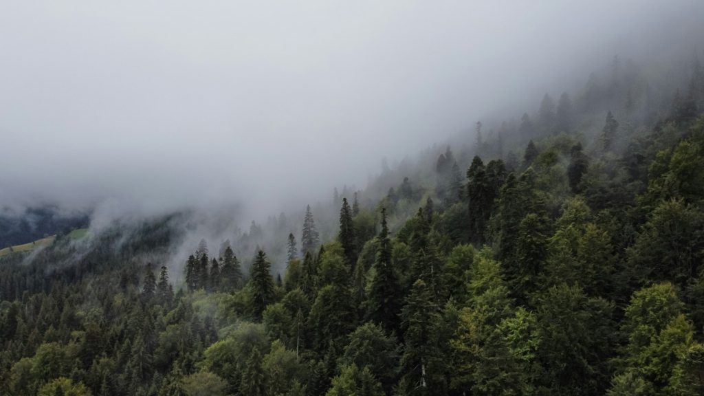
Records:
<instances>
[{"instance_id":1,"label":"pale grey overcast, foggy sky above the forested slope","mask_svg":"<svg viewBox=\"0 0 704 396\"><path fill-rule=\"evenodd\" d=\"M0 205L276 213L703 16L699 0L3 1Z\"/></svg>"}]
</instances>

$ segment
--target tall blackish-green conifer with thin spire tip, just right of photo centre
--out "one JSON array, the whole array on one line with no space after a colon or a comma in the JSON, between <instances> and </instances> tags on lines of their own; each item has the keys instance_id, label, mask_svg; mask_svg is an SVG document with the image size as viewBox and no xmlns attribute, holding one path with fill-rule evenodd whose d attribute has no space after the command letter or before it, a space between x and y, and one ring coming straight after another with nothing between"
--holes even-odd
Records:
<instances>
[{"instance_id":1,"label":"tall blackish-green conifer with thin spire tip, just right of photo centre","mask_svg":"<svg viewBox=\"0 0 704 396\"><path fill-rule=\"evenodd\" d=\"M386 208L382 208L382 230L379 233L379 247L377 247L374 268L376 272L372 278L367 299L367 320L379 323L389 332L398 333L402 291L396 271L391 264L391 240L389 240L389 225L386 223Z\"/></svg>"}]
</instances>

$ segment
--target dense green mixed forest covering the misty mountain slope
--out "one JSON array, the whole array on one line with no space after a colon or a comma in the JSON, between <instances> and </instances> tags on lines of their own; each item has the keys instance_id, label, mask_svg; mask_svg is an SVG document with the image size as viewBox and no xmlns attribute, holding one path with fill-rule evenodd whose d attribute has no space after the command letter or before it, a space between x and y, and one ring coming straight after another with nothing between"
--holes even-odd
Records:
<instances>
[{"instance_id":1,"label":"dense green mixed forest covering the misty mountain slope","mask_svg":"<svg viewBox=\"0 0 704 396\"><path fill-rule=\"evenodd\" d=\"M332 233L5 256L0 394L704 395L704 68L643 70L336 190Z\"/></svg>"}]
</instances>

